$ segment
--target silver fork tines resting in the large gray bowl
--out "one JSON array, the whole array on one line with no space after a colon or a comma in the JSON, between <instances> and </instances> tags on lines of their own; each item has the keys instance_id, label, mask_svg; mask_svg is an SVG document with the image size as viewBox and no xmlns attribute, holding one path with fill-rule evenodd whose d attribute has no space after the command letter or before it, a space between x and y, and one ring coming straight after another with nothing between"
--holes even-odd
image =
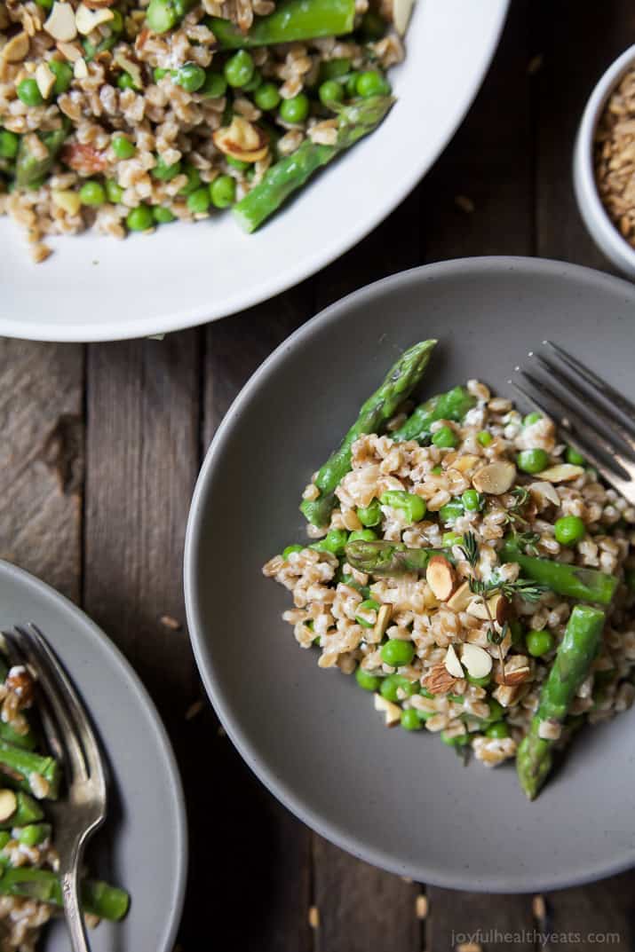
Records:
<instances>
[{"instance_id":1,"label":"silver fork tines resting in the large gray bowl","mask_svg":"<svg viewBox=\"0 0 635 952\"><path fill-rule=\"evenodd\" d=\"M563 347L551 341L543 346L548 357L534 351L528 355L539 373L515 367L525 386L518 378L509 383L550 416L566 432L567 442L635 505L635 406Z\"/></svg>"}]
</instances>

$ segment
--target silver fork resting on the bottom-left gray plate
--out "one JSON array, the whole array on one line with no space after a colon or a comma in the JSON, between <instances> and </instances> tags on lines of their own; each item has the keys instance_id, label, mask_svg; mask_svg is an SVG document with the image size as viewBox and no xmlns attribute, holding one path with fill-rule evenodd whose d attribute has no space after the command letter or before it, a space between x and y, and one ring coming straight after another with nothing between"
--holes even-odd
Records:
<instances>
[{"instance_id":1,"label":"silver fork resting on the bottom-left gray plate","mask_svg":"<svg viewBox=\"0 0 635 952\"><path fill-rule=\"evenodd\" d=\"M90 952L79 904L79 866L84 846L106 817L106 769L91 722L49 643L35 625L3 632L11 661L25 664L46 704L42 724L54 756L65 767L67 797L48 804L55 822L64 913L73 952Z\"/></svg>"}]
</instances>

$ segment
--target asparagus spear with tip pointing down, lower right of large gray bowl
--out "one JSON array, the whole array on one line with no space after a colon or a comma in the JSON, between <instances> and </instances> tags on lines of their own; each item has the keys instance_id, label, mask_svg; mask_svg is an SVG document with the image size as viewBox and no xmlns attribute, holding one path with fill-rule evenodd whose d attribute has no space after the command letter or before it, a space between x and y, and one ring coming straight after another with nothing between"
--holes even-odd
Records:
<instances>
[{"instance_id":1,"label":"asparagus spear with tip pointing down, lower right of large gray bowl","mask_svg":"<svg viewBox=\"0 0 635 952\"><path fill-rule=\"evenodd\" d=\"M603 627L604 611L600 608L576 605L571 612L563 641L543 684L538 710L516 756L518 778L529 800L538 796L552 765L553 741L540 736L540 726L543 721L563 723L596 655Z\"/></svg>"}]
</instances>

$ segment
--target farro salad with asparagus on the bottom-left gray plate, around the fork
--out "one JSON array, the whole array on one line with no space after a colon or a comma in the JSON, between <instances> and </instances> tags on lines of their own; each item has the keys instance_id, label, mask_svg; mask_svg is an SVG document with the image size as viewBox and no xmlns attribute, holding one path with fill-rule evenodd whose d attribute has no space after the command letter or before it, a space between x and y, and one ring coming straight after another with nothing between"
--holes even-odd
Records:
<instances>
[{"instance_id":1,"label":"farro salad with asparagus on the bottom-left gray plate, around the fork","mask_svg":"<svg viewBox=\"0 0 635 952\"><path fill-rule=\"evenodd\" d=\"M61 765L44 750L30 671L0 654L0 952L34 952L62 905L55 831L46 802L57 800ZM84 880L86 920L120 920L130 903L116 886Z\"/></svg>"}]
</instances>

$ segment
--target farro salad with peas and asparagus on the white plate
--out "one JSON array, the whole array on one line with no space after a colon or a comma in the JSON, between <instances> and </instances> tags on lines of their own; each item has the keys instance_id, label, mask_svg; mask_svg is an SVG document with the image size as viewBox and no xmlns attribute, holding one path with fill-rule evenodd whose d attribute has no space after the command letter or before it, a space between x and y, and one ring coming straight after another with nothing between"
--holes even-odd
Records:
<instances>
[{"instance_id":1,"label":"farro salad with peas and asparagus on the white plate","mask_svg":"<svg viewBox=\"0 0 635 952\"><path fill-rule=\"evenodd\" d=\"M375 6L371 6L371 3ZM379 125L412 0L0 0L0 214L258 228Z\"/></svg>"}]
</instances>

